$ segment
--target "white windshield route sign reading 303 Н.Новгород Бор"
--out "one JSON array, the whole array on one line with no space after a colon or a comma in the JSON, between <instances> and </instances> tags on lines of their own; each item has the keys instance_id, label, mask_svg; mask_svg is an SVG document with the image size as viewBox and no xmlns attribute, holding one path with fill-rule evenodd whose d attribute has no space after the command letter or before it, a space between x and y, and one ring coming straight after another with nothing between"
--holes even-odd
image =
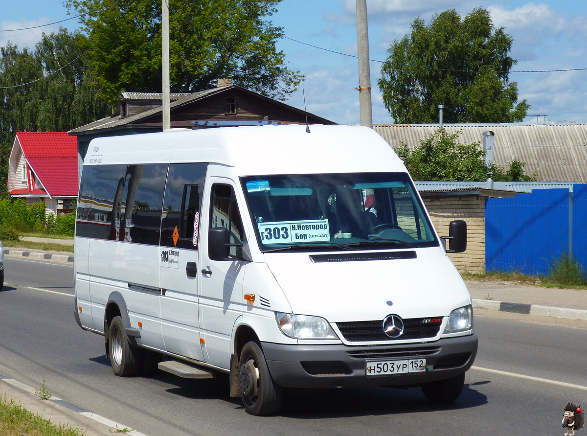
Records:
<instances>
[{"instance_id":1,"label":"white windshield route sign reading 303 \u041d.\u041d\u043e\u0432\u0433\u043e\u0440\u043e\u0434 \u0411\u043e\u0440","mask_svg":"<svg viewBox=\"0 0 587 436\"><path fill-rule=\"evenodd\" d=\"M264 244L330 242L328 220L279 221L259 223L258 226Z\"/></svg>"}]
</instances>

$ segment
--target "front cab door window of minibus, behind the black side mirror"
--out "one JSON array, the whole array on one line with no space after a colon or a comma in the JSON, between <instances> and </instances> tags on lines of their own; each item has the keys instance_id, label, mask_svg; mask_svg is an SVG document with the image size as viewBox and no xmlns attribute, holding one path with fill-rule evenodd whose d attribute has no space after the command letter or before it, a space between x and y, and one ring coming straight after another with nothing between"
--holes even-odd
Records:
<instances>
[{"instance_id":1,"label":"front cab door window of minibus, behind the black side mirror","mask_svg":"<svg viewBox=\"0 0 587 436\"><path fill-rule=\"evenodd\" d=\"M230 185L212 186L210 227L225 227L230 233L231 244L242 244L244 232L241 214L238 211L234 189ZM230 247L230 254L237 255L237 248Z\"/></svg>"}]
</instances>

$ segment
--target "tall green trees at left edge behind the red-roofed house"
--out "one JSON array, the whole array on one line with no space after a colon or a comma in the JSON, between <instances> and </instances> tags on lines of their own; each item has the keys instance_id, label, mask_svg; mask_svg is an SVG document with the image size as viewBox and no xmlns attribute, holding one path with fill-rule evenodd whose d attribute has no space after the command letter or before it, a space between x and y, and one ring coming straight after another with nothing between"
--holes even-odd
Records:
<instances>
[{"instance_id":1,"label":"tall green trees at left edge behind the red-roofed house","mask_svg":"<svg viewBox=\"0 0 587 436\"><path fill-rule=\"evenodd\" d=\"M8 197L8 157L16 132L64 132L106 115L83 52L87 37L65 29L35 51L0 48L0 197Z\"/></svg>"}]
</instances>

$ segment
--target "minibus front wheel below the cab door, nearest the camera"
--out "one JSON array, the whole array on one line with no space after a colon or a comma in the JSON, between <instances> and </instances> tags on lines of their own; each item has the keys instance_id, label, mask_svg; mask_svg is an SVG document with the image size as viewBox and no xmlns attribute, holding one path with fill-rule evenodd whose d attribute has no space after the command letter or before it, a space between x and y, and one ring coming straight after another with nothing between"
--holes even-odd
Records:
<instances>
[{"instance_id":1,"label":"minibus front wheel below the cab door, nearest the camera","mask_svg":"<svg viewBox=\"0 0 587 436\"><path fill-rule=\"evenodd\" d=\"M239 387L242 404L251 415L271 415L281 406L283 389L269 374L263 351L257 342L242 347L239 358Z\"/></svg>"}]
</instances>

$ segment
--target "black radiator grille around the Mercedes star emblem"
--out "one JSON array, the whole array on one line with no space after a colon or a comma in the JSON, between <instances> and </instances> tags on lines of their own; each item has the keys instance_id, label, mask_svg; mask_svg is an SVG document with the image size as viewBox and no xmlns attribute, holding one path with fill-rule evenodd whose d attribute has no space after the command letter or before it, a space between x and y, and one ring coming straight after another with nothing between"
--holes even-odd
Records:
<instances>
[{"instance_id":1,"label":"black radiator grille around the Mercedes star emblem","mask_svg":"<svg viewBox=\"0 0 587 436\"><path fill-rule=\"evenodd\" d=\"M404 331L398 338L390 338L383 331L383 321L352 321L336 323L342 336L349 342L356 341L405 341L408 339L433 338L438 334L442 323L424 323L430 318L410 318L403 320Z\"/></svg>"}]
</instances>

